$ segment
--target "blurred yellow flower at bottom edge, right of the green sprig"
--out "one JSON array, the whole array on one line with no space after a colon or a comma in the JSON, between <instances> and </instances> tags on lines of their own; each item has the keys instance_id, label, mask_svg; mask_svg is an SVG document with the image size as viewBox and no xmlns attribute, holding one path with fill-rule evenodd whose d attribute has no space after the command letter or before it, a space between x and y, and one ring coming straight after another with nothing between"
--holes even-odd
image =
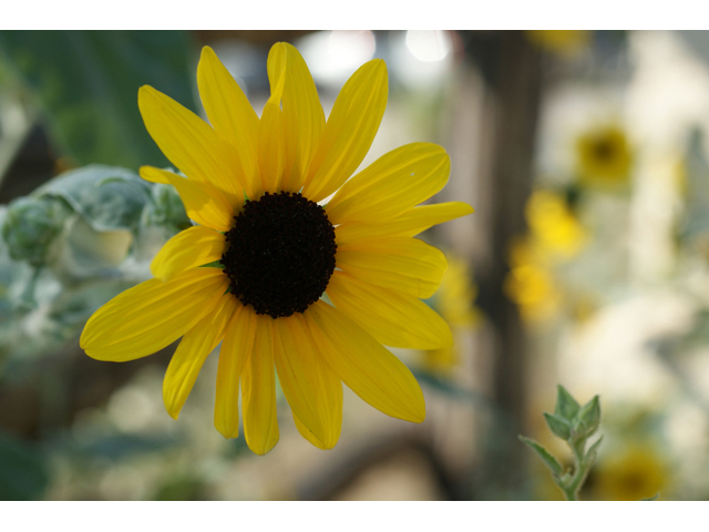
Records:
<instances>
[{"instance_id":1,"label":"blurred yellow flower at bottom edge, right of the green sprig","mask_svg":"<svg viewBox=\"0 0 709 532\"><path fill-rule=\"evenodd\" d=\"M665 490L669 470L660 452L649 444L630 443L618 454L598 462L593 497L604 501L639 501Z\"/></svg>"}]
</instances>

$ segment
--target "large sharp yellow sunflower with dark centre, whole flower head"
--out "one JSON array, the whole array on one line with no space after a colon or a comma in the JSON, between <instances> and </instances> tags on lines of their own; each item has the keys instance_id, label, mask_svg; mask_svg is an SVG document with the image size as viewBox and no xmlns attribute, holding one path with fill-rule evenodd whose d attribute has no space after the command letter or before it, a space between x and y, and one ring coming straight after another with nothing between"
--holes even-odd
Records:
<instances>
[{"instance_id":1,"label":"large sharp yellow sunflower with dark centre, whole flower head","mask_svg":"<svg viewBox=\"0 0 709 532\"><path fill-rule=\"evenodd\" d=\"M387 104L382 60L352 74L327 121L294 47L275 44L267 66L260 117L208 47L197 85L209 123L140 89L148 133L186 177L151 166L141 176L174 185L195 225L155 256L154 278L96 310L81 336L90 357L109 361L182 337L163 383L173 418L222 342L214 423L238 436L240 386L244 434L258 454L278 441L276 372L296 427L321 449L340 436L342 382L389 416L423 421L421 388L383 345L452 344L421 301L445 257L413 236L472 212L460 202L417 206L448 181L450 160L434 144L393 150L350 178Z\"/></svg>"}]
</instances>

